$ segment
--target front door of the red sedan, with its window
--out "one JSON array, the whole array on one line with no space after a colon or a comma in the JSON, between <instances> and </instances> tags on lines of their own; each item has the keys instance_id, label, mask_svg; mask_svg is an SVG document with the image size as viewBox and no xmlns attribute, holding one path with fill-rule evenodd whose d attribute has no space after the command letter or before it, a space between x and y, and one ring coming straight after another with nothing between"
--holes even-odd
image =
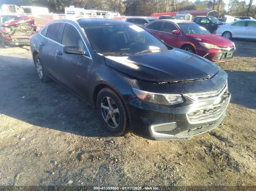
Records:
<instances>
[{"instance_id":1,"label":"front door of the red sedan, with its window","mask_svg":"<svg viewBox=\"0 0 256 191\"><path fill-rule=\"evenodd\" d=\"M173 47L176 47L180 41L180 35L172 34L172 31L178 30L174 23L164 22L163 30L160 32L160 39Z\"/></svg>"}]
</instances>

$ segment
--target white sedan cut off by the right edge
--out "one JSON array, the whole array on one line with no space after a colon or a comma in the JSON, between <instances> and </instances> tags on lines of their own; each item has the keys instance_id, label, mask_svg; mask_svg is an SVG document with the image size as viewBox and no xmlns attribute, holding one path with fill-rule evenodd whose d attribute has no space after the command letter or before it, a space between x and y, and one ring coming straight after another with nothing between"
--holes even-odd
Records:
<instances>
[{"instance_id":1,"label":"white sedan cut off by the right edge","mask_svg":"<svg viewBox=\"0 0 256 191\"><path fill-rule=\"evenodd\" d=\"M251 38L256 39L256 20L236 20L218 26L217 35L225 38Z\"/></svg>"}]
</instances>

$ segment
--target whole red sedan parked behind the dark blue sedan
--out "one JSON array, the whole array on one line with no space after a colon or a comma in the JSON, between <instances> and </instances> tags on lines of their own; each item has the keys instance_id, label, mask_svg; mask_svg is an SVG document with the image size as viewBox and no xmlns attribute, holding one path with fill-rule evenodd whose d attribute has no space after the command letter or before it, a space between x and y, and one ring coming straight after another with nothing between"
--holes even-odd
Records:
<instances>
[{"instance_id":1,"label":"whole red sedan parked behind the dark blue sedan","mask_svg":"<svg viewBox=\"0 0 256 191\"><path fill-rule=\"evenodd\" d=\"M211 61L232 60L236 46L224 37L210 34L204 27L185 20L155 20L145 29L169 46L198 54Z\"/></svg>"}]
</instances>

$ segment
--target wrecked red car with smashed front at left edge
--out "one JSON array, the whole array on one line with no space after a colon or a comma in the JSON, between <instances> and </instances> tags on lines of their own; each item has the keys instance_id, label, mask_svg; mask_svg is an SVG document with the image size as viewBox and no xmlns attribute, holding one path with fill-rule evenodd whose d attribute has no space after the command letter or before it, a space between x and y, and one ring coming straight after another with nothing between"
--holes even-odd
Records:
<instances>
[{"instance_id":1,"label":"wrecked red car with smashed front at left edge","mask_svg":"<svg viewBox=\"0 0 256 191\"><path fill-rule=\"evenodd\" d=\"M4 48L29 46L32 35L39 30L33 17L1 15L0 21L0 43Z\"/></svg>"}]
</instances>

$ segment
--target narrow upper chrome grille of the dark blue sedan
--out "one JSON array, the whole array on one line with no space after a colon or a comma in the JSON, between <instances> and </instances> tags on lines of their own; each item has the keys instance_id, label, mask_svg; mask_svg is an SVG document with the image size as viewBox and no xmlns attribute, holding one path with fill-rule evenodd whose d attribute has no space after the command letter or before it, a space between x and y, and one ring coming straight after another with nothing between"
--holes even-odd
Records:
<instances>
[{"instance_id":1,"label":"narrow upper chrome grille of the dark blue sedan","mask_svg":"<svg viewBox=\"0 0 256 191\"><path fill-rule=\"evenodd\" d=\"M226 88L227 88L227 82L217 91L209 91L209 92L196 93L196 94L184 94L184 96L190 97L193 100L204 100L204 99L209 99L209 98L218 96Z\"/></svg>"}]
</instances>

